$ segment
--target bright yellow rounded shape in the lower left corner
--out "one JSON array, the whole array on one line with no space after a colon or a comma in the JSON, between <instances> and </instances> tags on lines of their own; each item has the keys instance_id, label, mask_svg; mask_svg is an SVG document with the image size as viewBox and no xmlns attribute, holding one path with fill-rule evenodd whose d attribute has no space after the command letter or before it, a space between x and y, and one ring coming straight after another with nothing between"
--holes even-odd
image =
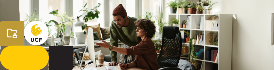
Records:
<instances>
[{"instance_id":1,"label":"bright yellow rounded shape in the lower left corner","mask_svg":"<svg viewBox=\"0 0 274 70\"><path fill-rule=\"evenodd\" d=\"M0 54L1 64L9 70L40 70L48 59L47 51L40 46L8 46Z\"/></svg>"}]
</instances>

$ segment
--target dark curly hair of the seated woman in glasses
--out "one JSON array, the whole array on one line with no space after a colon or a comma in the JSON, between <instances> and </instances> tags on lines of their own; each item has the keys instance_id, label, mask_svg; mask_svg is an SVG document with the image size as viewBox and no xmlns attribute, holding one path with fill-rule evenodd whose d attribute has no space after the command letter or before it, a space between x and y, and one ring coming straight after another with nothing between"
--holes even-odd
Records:
<instances>
[{"instance_id":1,"label":"dark curly hair of the seated woman in glasses","mask_svg":"<svg viewBox=\"0 0 274 70\"><path fill-rule=\"evenodd\" d=\"M138 19L135 22L135 26L144 30L144 33L147 37L151 38L156 32L156 26L149 19Z\"/></svg>"}]
</instances>

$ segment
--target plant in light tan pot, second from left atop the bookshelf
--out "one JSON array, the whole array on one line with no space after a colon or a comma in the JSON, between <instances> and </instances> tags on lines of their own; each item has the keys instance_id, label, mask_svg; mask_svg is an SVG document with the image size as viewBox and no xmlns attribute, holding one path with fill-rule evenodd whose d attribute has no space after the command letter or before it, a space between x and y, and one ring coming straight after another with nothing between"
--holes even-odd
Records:
<instances>
[{"instance_id":1,"label":"plant in light tan pot, second from left atop the bookshelf","mask_svg":"<svg viewBox=\"0 0 274 70\"><path fill-rule=\"evenodd\" d=\"M179 8L178 8L179 14L183 13L183 9L184 9L184 13L187 14L188 13L188 5L189 5L188 1L186 1L186 0L180 0L179 1ZM180 12L180 11L182 11L182 12Z\"/></svg>"}]
</instances>

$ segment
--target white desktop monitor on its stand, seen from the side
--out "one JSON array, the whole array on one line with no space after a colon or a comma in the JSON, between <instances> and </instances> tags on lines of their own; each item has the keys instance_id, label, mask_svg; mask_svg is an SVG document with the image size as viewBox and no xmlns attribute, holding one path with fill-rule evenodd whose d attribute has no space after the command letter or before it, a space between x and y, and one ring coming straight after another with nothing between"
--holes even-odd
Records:
<instances>
[{"instance_id":1,"label":"white desktop monitor on its stand, seen from the side","mask_svg":"<svg viewBox=\"0 0 274 70\"><path fill-rule=\"evenodd\" d=\"M89 27L88 31L89 31L89 32L88 32L88 36L87 36L87 46L86 46L86 48L89 47L88 50L89 50L90 59L91 59L91 61L93 61L94 67L96 67L93 29ZM80 64L83 63L83 59L84 59L85 53L86 53L86 49L85 49L85 51L84 51L84 55L83 55L83 58L82 58ZM88 62L89 62L89 61L88 61ZM88 63L88 62L86 62L86 63ZM81 65L80 65L80 66L81 66ZM81 67L80 67L80 68L81 68ZM78 66L78 69L79 69L79 66ZM86 69L86 68L85 68L85 69ZM87 69L88 69L88 68L87 68ZM94 70L94 69L96 70L96 68L93 68L93 70ZM81 70L82 70L82 68L81 68ZM89 69L88 69L88 70L89 70Z\"/></svg>"}]
</instances>

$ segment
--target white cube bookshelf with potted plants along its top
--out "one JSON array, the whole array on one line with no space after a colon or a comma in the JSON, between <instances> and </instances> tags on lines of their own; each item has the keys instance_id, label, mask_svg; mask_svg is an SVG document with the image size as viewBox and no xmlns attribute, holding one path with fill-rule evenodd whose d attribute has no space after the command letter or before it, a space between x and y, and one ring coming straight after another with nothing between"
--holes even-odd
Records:
<instances>
[{"instance_id":1,"label":"white cube bookshelf with potted plants along its top","mask_svg":"<svg viewBox=\"0 0 274 70\"><path fill-rule=\"evenodd\" d=\"M206 19L211 16L219 16L219 30L210 30L206 28ZM182 28L182 21L187 20L188 16L190 16L190 28ZM204 29L198 29L195 27L196 24L200 24L201 16L204 18L203 24ZM169 20L173 18L179 19L179 29L180 30L190 30L190 38L195 37L196 33L203 33L203 44L196 44L196 47L203 47L204 56L203 59L195 59L198 61L203 61L204 70L213 70L213 67L217 67L218 70L231 70L231 55L232 55L232 14L169 14ZM209 43L209 33L218 32L218 46L210 45ZM197 34L196 34L197 35ZM189 43L184 43L188 46ZM208 61L207 58L207 50L216 49L218 50L218 62ZM181 57L184 59L188 59L187 57ZM217 66L216 66L217 65Z\"/></svg>"}]
</instances>

